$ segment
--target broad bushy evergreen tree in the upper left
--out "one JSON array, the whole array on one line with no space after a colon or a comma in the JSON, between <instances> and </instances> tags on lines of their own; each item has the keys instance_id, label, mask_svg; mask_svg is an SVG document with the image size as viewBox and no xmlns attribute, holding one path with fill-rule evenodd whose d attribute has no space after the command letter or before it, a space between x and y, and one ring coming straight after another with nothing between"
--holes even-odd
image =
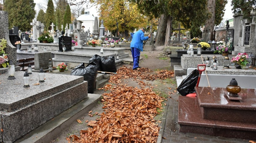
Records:
<instances>
[{"instance_id":1,"label":"broad bushy evergreen tree in the upper left","mask_svg":"<svg viewBox=\"0 0 256 143\"><path fill-rule=\"evenodd\" d=\"M6 0L4 10L8 12L9 28L19 27L21 31L31 29L30 22L35 18L34 0Z\"/></svg>"}]
</instances>

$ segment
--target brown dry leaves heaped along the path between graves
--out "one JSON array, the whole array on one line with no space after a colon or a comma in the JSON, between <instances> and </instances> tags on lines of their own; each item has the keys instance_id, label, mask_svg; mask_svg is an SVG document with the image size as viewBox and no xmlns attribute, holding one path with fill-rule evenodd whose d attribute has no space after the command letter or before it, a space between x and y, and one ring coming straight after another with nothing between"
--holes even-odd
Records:
<instances>
[{"instance_id":1,"label":"brown dry leaves heaped along the path between graves","mask_svg":"<svg viewBox=\"0 0 256 143\"><path fill-rule=\"evenodd\" d=\"M117 75L111 76L112 83L120 83L118 79L137 78L138 74L151 72L142 68L142 71L130 70L121 67ZM143 73L143 74L144 74ZM153 77L147 79L167 78L168 71L159 71ZM165 75L166 74L166 75ZM173 76L173 75L172 75ZM139 143L157 142L159 127L154 120L157 108L162 108L164 99L152 91L152 88L128 87L126 84L107 84L102 89L110 90L104 93L102 102L105 113L101 113L100 119L88 122L88 130L81 130L80 137L72 135L68 142L74 143Z\"/></svg>"}]
</instances>

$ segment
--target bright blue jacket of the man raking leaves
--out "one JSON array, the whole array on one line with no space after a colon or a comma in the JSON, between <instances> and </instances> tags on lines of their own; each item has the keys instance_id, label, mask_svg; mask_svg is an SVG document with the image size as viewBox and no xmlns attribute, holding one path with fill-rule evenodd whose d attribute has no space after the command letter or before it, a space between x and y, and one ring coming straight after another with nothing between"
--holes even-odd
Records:
<instances>
[{"instance_id":1,"label":"bright blue jacket of the man raking leaves","mask_svg":"<svg viewBox=\"0 0 256 143\"><path fill-rule=\"evenodd\" d=\"M139 49L140 51L143 51L143 41L148 40L148 36L144 36L144 33L142 30L139 30L133 34L133 39L130 44L130 47L134 47Z\"/></svg>"}]
</instances>

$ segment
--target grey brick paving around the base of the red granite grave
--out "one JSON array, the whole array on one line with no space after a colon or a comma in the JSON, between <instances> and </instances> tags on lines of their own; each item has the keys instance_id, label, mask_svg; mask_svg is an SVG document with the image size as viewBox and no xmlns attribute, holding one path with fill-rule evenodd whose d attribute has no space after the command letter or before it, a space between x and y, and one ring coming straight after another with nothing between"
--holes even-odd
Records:
<instances>
[{"instance_id":1,"label":"grey brick paving around the base of the red granite grave","mask_svg":"<svg viewBox=\"0 0 256 143\"><path fill-rule=\"evenodd\" d=\"M163 114L163 124L165 127L162 135L162 143L248 143L249 140L225 138L220 136L209 136L195 133L179 133L178 125L178 96L169 99ZM167 110L166 110L167 109ZM166 116L166 120L164 118ZM160 129L161 133L161 129ZM158 142L160 140L158 139Z\"/></svg>"}]
</instances>

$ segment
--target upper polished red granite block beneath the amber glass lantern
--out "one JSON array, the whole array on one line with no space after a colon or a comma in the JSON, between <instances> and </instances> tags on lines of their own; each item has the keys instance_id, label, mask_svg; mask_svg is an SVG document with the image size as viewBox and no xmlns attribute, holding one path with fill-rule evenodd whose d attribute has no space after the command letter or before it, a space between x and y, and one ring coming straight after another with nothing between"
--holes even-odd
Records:
<instances>
[{"instance_id":1,"label":"upper polished red granite block beneath the amber glass lantern","mask_svg":"<svg viewBox=\"0 0 256 143\"><path fill-rule=\"evenodd\" d=\"M229 100L226 88L195 87L203 119L256 123L256 89L241 89L240 101Z\"/></svg>"}]
</instances>

